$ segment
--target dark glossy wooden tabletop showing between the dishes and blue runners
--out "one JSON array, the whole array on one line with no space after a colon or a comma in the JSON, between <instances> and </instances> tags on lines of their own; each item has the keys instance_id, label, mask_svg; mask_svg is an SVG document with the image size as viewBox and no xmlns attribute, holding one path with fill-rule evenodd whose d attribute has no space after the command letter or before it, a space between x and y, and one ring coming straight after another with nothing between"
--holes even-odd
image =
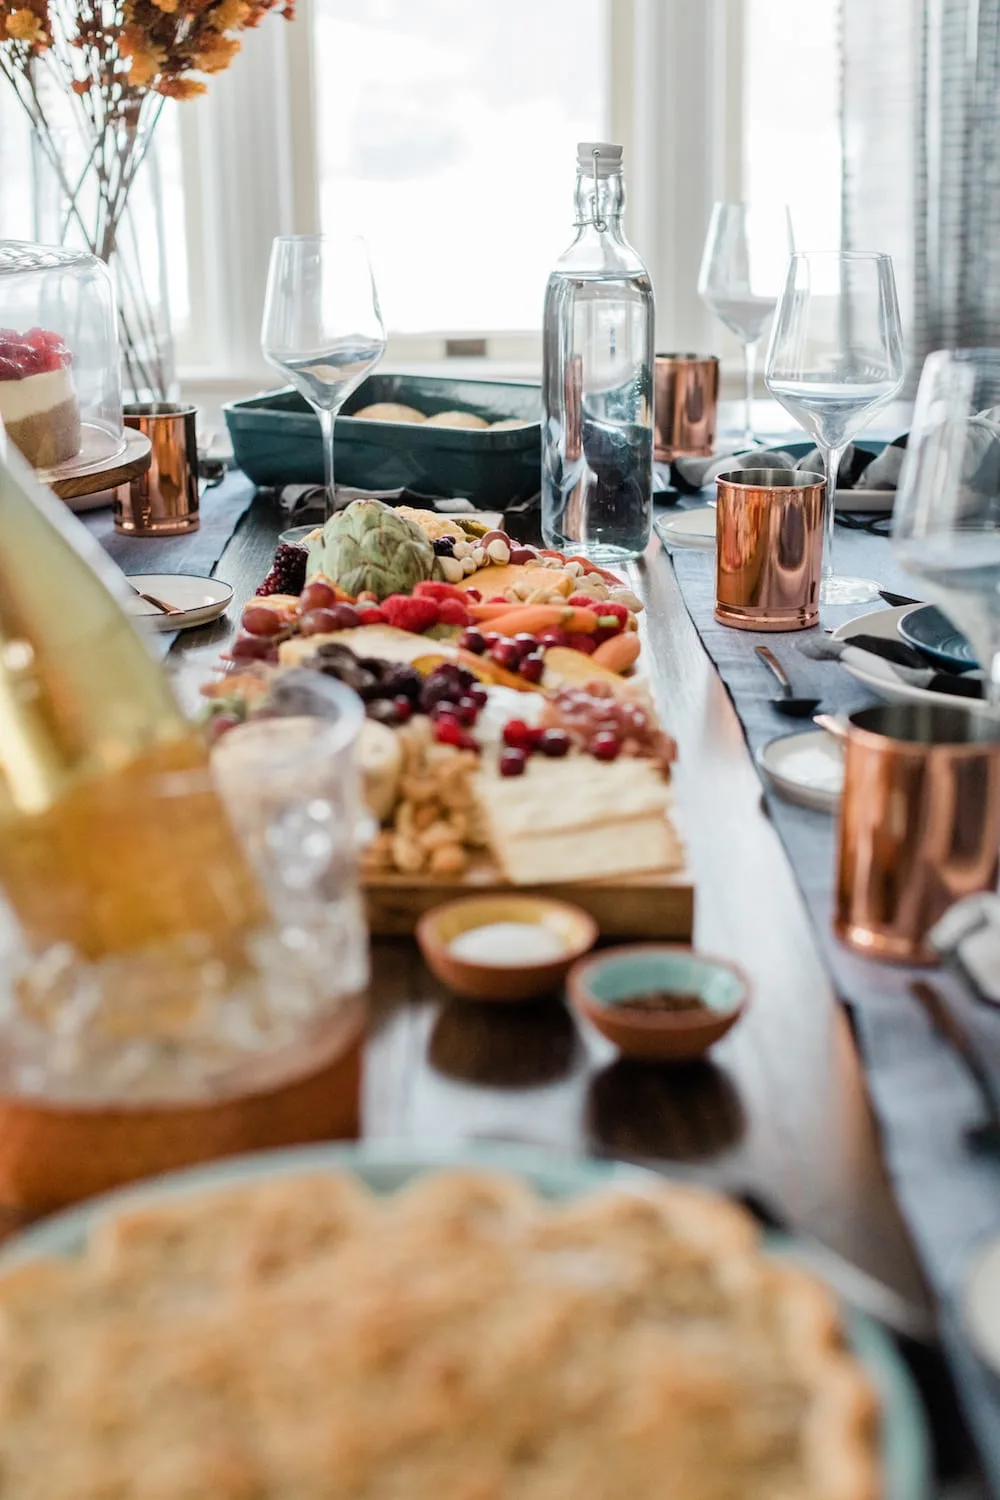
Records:
<instances>
[{"instance_id":1,"label":"dark glossy wooden tabletop showing between the dishes and blue runners","mask_svg":"<svg viewBox=\"0 0 1000 1500\"><path fill-rule=\"evenodd\" d=\"M171 650L205 676L288 525L255 498L216 574L228 618ZM621 1058L559 1004L454 999L409 939L372 944L363 1134L406 1143L514 1142L607 1155L750 1197L916 1308L928 1292L895 1206L847 1011L768 820L742 729L658 543L630 568L645 603L646 672L678 741L676 820L694 874L694 944L741 964L745 1018L682 1068ZM916 1358L940 1446L942 1492L985 1494L943 1366ZM955 1488L958 1486L958 1488Z\"/></svg>"}]
</instances>

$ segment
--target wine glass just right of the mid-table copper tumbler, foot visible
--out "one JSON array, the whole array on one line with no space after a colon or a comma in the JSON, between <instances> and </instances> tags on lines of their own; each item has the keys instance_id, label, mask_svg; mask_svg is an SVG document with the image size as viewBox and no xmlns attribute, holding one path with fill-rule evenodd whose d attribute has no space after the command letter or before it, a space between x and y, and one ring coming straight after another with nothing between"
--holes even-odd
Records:
<instances>
[{"instance_id":1,"label":"wine glass just right of the mid-table copper tumbler, foot visible","mask_svg":"<svg viewBox=\"0 0 1000 1500\"><path fill-rule=\"evenodd\" d=\"M823 454L826 546L820 600L865 604L879 598L871 579L834 573L834 508L844 448L903 386L903 330L891 255L792 255L771 328L765 384Z\"/></svg>"}]
</instances>

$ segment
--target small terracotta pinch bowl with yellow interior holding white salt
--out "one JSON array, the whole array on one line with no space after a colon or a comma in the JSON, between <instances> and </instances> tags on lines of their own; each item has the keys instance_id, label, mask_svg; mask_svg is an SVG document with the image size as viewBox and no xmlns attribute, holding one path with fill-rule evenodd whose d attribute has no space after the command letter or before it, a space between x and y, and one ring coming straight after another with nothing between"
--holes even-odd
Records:
<instances>
[{"instance_id":1,"label":"small terracotta pinch bowl with yellow interior holding white salt","mask_svg":"<svg viewBox=\"0 0 1000 1500\"><path fill-rule=\"evenodd\" d=\"M474 963L451 952L459 933L492 922L532 922L556 933L564 952L541 963ZM471 1000L532 1000L559 990L577 958L597 942L594 918L568 902L543 896L466 896L435 906L417 922L427 966L456 994Z\"/></svg>"}]
</instances>

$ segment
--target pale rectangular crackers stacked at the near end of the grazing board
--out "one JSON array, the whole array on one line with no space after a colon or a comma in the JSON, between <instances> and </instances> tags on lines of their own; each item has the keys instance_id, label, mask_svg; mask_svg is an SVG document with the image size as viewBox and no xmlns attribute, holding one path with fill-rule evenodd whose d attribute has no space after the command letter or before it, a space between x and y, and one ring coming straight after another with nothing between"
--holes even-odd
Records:
<instances>
[{"instance_id":1,"label":"pale rectangular crackers stacked at the near end of the grazing board","mask_svg":"<svg viewBox=\"0 0 1000 1500\"><path fill-rule=\"evenodd\" d=\"M484 768L474 790L513 885L643 874L684 862L670 786L649 760L535 756L519 777Z\"/></svg>"}]
</instances>

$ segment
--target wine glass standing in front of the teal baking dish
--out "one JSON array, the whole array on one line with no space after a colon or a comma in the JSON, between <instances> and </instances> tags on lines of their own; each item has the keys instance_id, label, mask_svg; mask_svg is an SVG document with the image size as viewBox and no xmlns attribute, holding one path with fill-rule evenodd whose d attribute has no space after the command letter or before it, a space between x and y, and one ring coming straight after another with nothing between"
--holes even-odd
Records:
<instances>
[{"instance_id":1,"label":"wine glass standing in front of the teal baking dish","mask_svg":"<svg viewBox=\"0 0 1000 1500\"><path fill-rule=\"evenodd\" d=\"M319 417L333 514L333 428L340 406L385 352L385 328L364 240L282 234L271 244L261 348Z\"/></svg>"}]
</instances>

